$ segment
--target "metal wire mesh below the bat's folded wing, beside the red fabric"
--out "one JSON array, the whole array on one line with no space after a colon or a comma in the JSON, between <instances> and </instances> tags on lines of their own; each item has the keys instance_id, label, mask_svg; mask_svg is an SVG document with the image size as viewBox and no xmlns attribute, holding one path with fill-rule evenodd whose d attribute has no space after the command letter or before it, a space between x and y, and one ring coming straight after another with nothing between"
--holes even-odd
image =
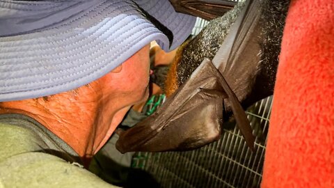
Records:
<instances>
[{"instance_id":1,"label":"metal wire mesh below the bat's folded wing, beside the red fabric","mask_svg":"<svg viewBox=\"0 0 334 188\"><path fill-rule=\"evenodd\" d=\"M255 152L234 128L198 150L138 152L132 166L151 173L161 187L260 187L271 101L268 97L246 111L256 135Z\"/></svg>"}]
</instances>

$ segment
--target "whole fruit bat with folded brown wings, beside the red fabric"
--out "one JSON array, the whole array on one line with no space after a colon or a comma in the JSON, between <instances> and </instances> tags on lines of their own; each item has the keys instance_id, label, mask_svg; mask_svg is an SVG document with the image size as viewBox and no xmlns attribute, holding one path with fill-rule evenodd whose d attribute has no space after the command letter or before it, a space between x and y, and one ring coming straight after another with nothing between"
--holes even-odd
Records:
<instances>
[{"instance_id":1,"label":"whole fruit bat with folded brown wings, beside the red fabric","mask_svg":"<svg viewBox=\"0 0 334 188\"><path fill-rule=\"evenodd\" d=\"M242 4L238 6L239 10L243 7ZM254 137L244 109L271 95L278 64L276 59L267 60L266 55L271 56L271 53L263 53L266 45L274 46L272 41L264 40L267 37L264 23L270 20L263 15L270 15L271 10L266 13L268 7L263 7L263 1L247 1L241 11L235 10L238 16L230 16L234 24L224 27L228 34L218 35L223 36L223 42L218 45L216 55L209 57L212 61L198 61L200 58L194 60L189 56L182 58L186 61L184 65L190 68L184 69L188 72L177 71L177 91L152 116L125 132L119 131L116 148L120 152L199 148L219 139L221 125L232 113L246 143L253 148ZM284 13L280 14L285 17ZM204 38L211 39L207 41L216 39L212 34L210 36L215 27L204 29L203 33L207 32ZM283 26L278 31L283 31ZM197 44L194 46L201 46L196 38L193 41ZM187 52L196 52L197 57L205 54L191 49L191 42L186 47ZM202 46L200 49L206 48ZM182 63L177 66L182 70Z\"/></svg>"}]
</instances>

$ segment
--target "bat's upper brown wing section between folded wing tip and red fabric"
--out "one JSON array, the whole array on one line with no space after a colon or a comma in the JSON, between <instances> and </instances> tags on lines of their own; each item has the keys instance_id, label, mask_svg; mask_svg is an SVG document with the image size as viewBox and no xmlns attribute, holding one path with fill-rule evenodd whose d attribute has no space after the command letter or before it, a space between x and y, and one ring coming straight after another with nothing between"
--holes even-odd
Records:
<instances>
[{"instance_id":1,"label":"bat's upper brown wing section between folded wing tip and red fabric","mask_svg":"<svg viewBox=\"0 0 334 188\"><path fill-rule=\"evenodd\" d=\"M212 59L244 109L272 95L276 80L278 54L273 52L280 52L276 47L280 42L269 37L268 29L264 28L267 21L263 20L263 6L262 1L246 1L244 10ZM279 33L276 31L278 36ZM264 54L269 54L271 59L268 60ZM225 107L230 111L228 102L225 102Z\"/></svg>"}]
</instances>

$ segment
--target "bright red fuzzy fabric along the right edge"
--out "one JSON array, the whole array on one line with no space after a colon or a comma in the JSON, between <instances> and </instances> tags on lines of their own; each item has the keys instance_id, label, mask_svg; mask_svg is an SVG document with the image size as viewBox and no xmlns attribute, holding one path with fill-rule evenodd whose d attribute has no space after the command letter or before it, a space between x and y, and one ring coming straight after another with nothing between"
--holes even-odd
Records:
<instances>
[{"instance_id":1,"label":"bright red fuzzy fabric along the right edge","mask_svg":"<svg viewBox=\"0 0 334 188\"><path fill-rule=\"evenodd\" d=\"M334 1L292 1L262 187L334 187Z\"/></svg>"}]
</instances>

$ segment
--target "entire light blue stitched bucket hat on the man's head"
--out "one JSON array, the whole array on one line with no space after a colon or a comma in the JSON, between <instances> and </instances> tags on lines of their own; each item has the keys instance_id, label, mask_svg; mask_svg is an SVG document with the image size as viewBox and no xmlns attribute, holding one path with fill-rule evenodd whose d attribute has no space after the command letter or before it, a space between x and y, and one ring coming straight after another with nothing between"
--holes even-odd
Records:
<instances>
[{"instance_id":1,"label":"entire light blue stitched bucket hat on the man's head","mask_svg":"<svg viewBox=\"0 0 334 188\"><path fill-rule=\"evenodd\" d=\"M175 49L195 21L168 0L1 0L0 101L88 84L152 40Z\"/></svg>"}]
</instances>

